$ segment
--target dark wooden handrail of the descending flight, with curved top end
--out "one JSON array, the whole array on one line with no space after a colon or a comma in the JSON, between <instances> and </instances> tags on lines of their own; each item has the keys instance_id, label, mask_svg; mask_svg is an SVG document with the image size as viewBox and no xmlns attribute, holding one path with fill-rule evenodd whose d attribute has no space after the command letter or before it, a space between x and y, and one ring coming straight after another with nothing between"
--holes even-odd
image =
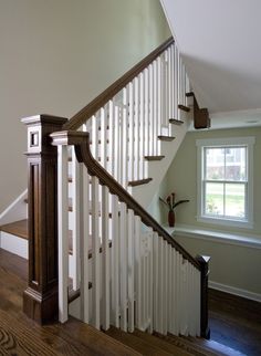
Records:
<instances>
[{"instance_id":1,"label":"dark wooden handrail of the descending flight, with curved top end","mask_svg":"<svg viewBox=\"0 0 261 356\"><path fill-rule=\"evenodd\" d=\"M100 179L101 185L108 187L113 195L124 201L142 221L153 228L164 240L170 243L190 263L201 271L200 263L194 259L167 231L94 159L90 148L90 135L83 132L63 130L50 135L52 145L74 145L77 160L83 163L91 176Z\"/></svg>"}]
</instances>

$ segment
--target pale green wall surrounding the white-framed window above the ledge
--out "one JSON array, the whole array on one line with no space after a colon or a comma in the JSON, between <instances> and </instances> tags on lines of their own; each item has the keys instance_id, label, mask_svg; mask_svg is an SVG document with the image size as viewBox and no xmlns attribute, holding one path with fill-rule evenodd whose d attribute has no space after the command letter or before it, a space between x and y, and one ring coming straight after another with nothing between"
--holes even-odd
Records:
<instances>
[{"instance_id":1,"label":"pale green wall surrounding the white-framed window above the ledge","mask_svg":"<svg viewBox=\"0 0 261 356\"><path fill-rule=\"evenodd\" d=\"M220 137L243 137L254 136L255 144L253 146L253 189L254 189L254 224L253 229L240 229L215 226L210 223L197 222L197 149L196 139L201 138L220 138ZM176 191L178 199L190 199L189 203L177 208L176 216L178 223L194 224L205 227L207 229L218 229L231 232L247 232L259 234L261 239L261 128L239 128L239 129L221 129L208 132L189 132L187 133L171 166L166 176L167 190Z\"/></svg>"}]
</instances>

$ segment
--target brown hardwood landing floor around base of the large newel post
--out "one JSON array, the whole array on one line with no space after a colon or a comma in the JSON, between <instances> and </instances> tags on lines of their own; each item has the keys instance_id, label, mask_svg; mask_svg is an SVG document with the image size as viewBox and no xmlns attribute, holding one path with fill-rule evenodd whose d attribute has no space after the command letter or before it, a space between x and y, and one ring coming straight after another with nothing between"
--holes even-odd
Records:
<instances>
[{"instance_id":1,"label":"brown hardwood landing floor around base of the large newel post","mask_svg":"<svg viewBox=\"0 0 261 356\"><path fill-rule=\"evenodd\" d=\"M48 326L29 320L22 312L25 273L23 259L0 249L0 355L140 355L74 318Z\"/></svg>"}]
</instances>

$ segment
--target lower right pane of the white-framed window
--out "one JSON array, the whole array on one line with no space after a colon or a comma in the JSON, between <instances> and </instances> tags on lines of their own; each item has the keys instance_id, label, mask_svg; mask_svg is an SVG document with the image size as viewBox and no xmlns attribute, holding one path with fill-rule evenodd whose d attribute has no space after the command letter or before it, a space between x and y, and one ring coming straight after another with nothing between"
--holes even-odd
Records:
<instances>
[{"instance_id":1,"label":"lower right pane of the white-framed window","mask_svg":"<svg viewBox=\"0 0 261 356\"><path fill-rule=\"evenodd\" d=\"M226 216L234 218L246 217L246 186L226 184Z\"/></svg>"}]
</instances>

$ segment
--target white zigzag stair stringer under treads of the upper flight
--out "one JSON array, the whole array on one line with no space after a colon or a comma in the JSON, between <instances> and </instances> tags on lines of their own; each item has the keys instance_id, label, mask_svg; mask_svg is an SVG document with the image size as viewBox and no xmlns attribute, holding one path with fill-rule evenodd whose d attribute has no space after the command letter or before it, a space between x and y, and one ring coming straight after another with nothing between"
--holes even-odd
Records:
<instances>
[{"instance_id":1,"label":"white zigzag stair stringer under treads of the upper flight","mask_svg":"<svg viewBox=\"0 0 261 356\"><path fill-rule=\"evenodd\" d=\"M173 136L175 136L175 139L170 143L161 143L161 155L165 156L165 158L160 161L148 163L148 177L152 177L153 180L148 185L133 187L132 189L132 196L145 209L147 209L150 205L155 191L158 190L160 182L163 181L179 149L179 146L186 136L186 133L190 126L190 114L187 115L187 118L182 118L182 125L174 126L173 128Z\"/></svg>"}]
</instances>

